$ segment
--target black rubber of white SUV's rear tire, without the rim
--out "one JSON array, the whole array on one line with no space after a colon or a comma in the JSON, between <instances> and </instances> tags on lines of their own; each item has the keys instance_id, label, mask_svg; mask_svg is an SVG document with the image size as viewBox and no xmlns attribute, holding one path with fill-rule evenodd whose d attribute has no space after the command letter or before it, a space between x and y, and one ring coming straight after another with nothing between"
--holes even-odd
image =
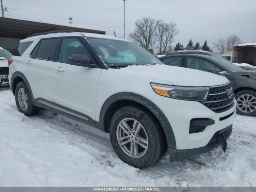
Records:
<instances>
[{"instance_id":1,"label":"black rubber of white SUV's rear tire, without the rim","mask_svg":"<svg viewBox=\"0 0 256 192\"><path fill-rule=\"evenodd\" d=\"M20 106L19 101L18 101L18 92L21 88L23 88L25 90L27 97L28 97L28 100L27 100L28 106L27 106L26 110L22 109L22 107ZM16 100L16 105L17 105L18 110L20 112L22 112L24 115L32 116L32 115L36 115L38 113L39 108L33 106L32 97L31 97L30 92L28 91L28 87L24 81L19 82L15 88L15 100Z\"/></svg>"}]
</instances>

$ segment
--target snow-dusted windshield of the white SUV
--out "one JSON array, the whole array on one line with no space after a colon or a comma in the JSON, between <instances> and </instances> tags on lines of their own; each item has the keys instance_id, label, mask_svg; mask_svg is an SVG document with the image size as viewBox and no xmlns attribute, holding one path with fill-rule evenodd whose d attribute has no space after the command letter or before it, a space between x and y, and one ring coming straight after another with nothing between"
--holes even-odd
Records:
<instances>
[{"instance_id":1,"label":"snow-dusted windshield of the white SUV","mask_svg":"<svg viewBox=\"0 0 256 192\"><path fill-rule=\"evenodd\" d=\"M97 54L110 67L162 64L158 58L136 43L104 38L88 39Z\"/></svg>"}]
</instances>

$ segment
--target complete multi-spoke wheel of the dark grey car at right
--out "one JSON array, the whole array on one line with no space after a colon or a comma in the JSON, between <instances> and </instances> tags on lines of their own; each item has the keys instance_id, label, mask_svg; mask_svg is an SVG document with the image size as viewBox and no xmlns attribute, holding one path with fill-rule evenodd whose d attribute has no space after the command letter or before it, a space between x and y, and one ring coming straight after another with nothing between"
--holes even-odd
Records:
<instances>
[{"instance_id":1,"label":"complete multi-spoke wheel of the dark grey car at right","mask_svg":"<svg viewBox=\"0 0 256 192\"><path fill-rule=\"evenodd\" d=\"M235 94L236 112L240 115L256 115L256 92L252 90L242 90Z\"/></svg>"}]
</instances>

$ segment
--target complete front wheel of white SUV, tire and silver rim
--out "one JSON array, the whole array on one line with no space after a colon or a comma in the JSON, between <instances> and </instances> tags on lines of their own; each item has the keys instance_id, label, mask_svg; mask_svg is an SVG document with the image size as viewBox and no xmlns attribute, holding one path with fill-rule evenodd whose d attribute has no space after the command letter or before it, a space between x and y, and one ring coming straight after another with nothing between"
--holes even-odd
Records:
<instances>
[{"instance_id":1,"label":"complete front wheel of white SUV, tire and silver rim","mask_svg":"<svg viewBox=\"0 0 256 192\"><path fill-rule=\"evenodd\" d=\"M156 164L167 147L165 135L155 118L135 106L125 106L114 113L110 121L110 140L118 157L137 168Z\"/></svg>"}]
</instances>

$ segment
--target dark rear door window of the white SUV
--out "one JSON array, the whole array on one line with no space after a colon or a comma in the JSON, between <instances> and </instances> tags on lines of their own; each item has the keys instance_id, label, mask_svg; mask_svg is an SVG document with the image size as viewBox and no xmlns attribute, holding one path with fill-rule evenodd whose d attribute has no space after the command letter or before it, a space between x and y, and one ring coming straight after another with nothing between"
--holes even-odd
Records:
<instances>
[{"instance_id":1,"label":"dark rear door window of the white SUV","mask_svg":"<svg viewBox=\"0 0 256 192\"><path fill-rule=\"evenodd\" d=\"M36 45L31 53L31 57L45 60L54 60L57 44L58 39L43 39Z\"/></svg>"}]
</instances>

